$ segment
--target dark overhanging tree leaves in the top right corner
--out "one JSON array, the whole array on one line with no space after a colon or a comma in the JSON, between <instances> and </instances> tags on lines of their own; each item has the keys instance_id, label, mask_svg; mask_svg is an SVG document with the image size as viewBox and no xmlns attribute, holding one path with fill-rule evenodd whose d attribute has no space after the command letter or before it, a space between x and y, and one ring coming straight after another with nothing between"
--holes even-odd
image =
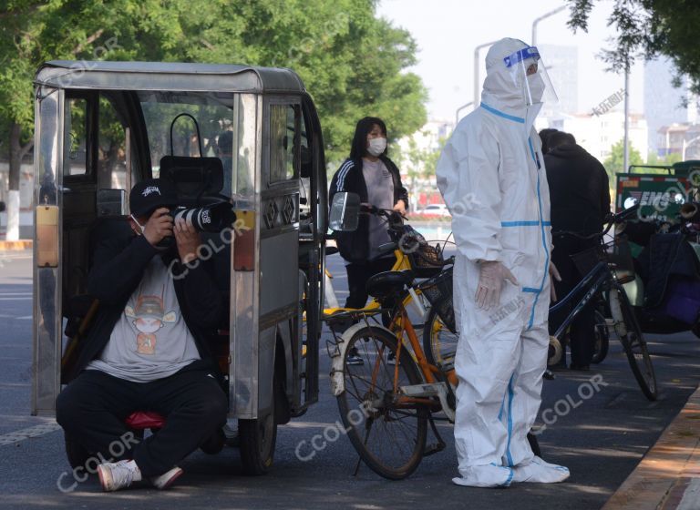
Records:
<instances>
[{"instance_id":1,"label":"dark overhanging tree leaves in the top right corner","mask_svg":"<svg viewBox=\"0 0 700 510\"><path fill-rule=\"evenodd\" d=\"M587 30L595 2L569 0L569 26L574 31ZM608 25L617 29L617 35L614 47L603 51L602 56L617 72L629 69L640 56L668 56L678 76L689 76L691 89L700 94L699 20L700 2L696 0L615 0Z\"/></svg>"}]
</instances>

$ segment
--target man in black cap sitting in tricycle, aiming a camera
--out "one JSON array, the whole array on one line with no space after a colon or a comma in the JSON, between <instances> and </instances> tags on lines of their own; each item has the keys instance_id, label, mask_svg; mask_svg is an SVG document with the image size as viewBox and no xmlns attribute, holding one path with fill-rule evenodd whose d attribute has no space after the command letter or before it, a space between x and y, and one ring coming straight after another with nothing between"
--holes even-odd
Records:
<instances>
[{"instance_id":1,"label":"man in black cap sitting in tricycle, aiming a camera","mask_svg":"<svg viewBox=\"0 0 700 510\"><path fill-rule=\"evenodd\" d=\"M207 346L224 305L206 264L193 263L200 235L184 219L173 222L177 194L168 181L139 182L129 205L130 235L98 231L88 276L98 316L56 403L67 436L99 455L105 491L140 480L168 487L182 474L176 463L210 442L228 412ZM124 423L135 411L166 423L135 441Z\"/></svg>"}]
</instances>

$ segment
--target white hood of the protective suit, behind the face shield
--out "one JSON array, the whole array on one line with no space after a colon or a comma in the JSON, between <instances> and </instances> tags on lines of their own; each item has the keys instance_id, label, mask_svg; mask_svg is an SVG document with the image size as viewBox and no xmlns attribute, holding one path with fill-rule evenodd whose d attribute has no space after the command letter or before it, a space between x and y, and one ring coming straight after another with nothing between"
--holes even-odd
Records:
<instances>
[{"instance_id":1,"label":"white hood of the protective suit, behind the face shield","mask_svg":"<svg viewBox=\"0 0 700 510\"><path fill-rule=\"evenodd\" d=\"M516 117L532 117L531 120L534 121L534 117L540 111L540 106L528 108L525 101L525 84L516 83L510 70L503 62L506 56L526 47L529 45L519 39L506 37L489 48L489 53L486 55L486 79L481 93L481 101L489 107ZM520 76L519 79L525 79L525 77ZM532 111L533 109L536 109L537 112ZM531 122L528 124L531 126Z\"/></svg>"}]
</instances>

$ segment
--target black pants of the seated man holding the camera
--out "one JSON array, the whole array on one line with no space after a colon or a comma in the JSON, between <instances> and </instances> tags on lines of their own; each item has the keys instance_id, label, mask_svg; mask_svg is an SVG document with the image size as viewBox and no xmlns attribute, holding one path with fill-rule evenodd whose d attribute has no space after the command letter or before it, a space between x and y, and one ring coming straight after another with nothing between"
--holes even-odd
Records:
<instances>
[{"instance_id":1,"label":"black pants of the seated man holding the camera","mask_svg":"<svg viewBox=\"0 0 700 510\"><path fill-rule=\"evenodd\" d=\"M135 444L124 423L134 411L160 413L166 424ZM184 370L153 382L86 370L56 401L56 420L74 441L106 460L133 459L144 477L165 473L196 450L226 423L227 412L219 382L202 370Z\"/></svg>"}]
</instances>

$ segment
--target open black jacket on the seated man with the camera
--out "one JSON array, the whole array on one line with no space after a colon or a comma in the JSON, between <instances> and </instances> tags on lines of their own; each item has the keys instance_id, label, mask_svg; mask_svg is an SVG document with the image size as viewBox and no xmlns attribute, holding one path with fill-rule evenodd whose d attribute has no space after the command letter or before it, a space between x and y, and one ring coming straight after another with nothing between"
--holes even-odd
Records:
<instances>
[{"instance_id":1,"label":"open black jacket on the seated man with the camera","mask_svg":"<svg viewBox=\"0 0 700 510\"><path fill-rule=\"evenodd\" d=\"M223 312L221 292L209 274L209 266L201 262L197 267L185 267L177 259L177 251L160 254L143 236L110 235L105 231L96 240L95 260L88 276L88 294L99 300L98 314L82 341L77 362L68 372L68 382L75 378L98 357L107 346L109 337L129 297L139 286L143 272L153 257L161 257L163 263L176 276L173 279L180 312L197 344L201 361L193 362L186 369L207 369L217 372L208 346L220 323ZM191 266L194 266L192 263Z\"/></svg>"}]
</instances>

